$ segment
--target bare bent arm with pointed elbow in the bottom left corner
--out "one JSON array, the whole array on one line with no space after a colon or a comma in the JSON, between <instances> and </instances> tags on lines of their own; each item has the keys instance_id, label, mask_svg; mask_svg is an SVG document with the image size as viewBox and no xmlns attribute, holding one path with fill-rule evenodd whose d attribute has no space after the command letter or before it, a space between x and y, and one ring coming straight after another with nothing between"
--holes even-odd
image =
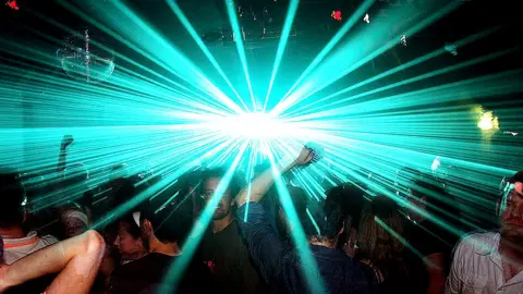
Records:
<instances>
[{"instance_id":1,"label":"bare bent arm with pointed elbow in the bottom left corner","mask_svg":"<svg viewBox=\"0 0 523 294\"><path fill-rule=\"evenodd\" d=\"M0 265L0 293L33 279L60 272L46 290L89 293L104 255L104 238L95 231L68 238L8 266Z\"/></svg>"}]
</instances>

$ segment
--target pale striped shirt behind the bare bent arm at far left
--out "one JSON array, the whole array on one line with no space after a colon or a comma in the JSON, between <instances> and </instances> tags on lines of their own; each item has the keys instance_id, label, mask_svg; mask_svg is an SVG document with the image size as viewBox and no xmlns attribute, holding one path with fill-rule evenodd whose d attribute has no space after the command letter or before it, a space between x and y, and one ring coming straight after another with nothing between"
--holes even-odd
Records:
<instances>
[{"instance_id":1,"label":"pale striped shirt behind the bare bent arm at far left","mask_svg":"<svg viewBox=\"0 0 523 294\"><path fill-rule=\"evenodd\" d=\"M3 238L3 261L8 265L34 252L57 243L51 235L39 237L36 232L29 232L26 237Z\"/></svg>"}]
</instances>

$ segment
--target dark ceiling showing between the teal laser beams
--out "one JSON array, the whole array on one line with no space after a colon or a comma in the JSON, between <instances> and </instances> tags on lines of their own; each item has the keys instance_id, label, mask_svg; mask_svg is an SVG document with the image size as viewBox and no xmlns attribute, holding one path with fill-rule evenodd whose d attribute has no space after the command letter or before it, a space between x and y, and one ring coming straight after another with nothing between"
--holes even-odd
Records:
<instances>
[{"instance_id":1,"label":"dark ceiling showing between the teal laser beams","mask_svg":"<svg viewBox=\"0 0 523 294\"><path fill-rule=\"evenodd\" d=\"M84 27L96 29L93 25L87 24L84 20L71 13L61 3L69 2L78 4L82 10L90 16L96 17L99 14L100 7L89 5L97 1L104 1L107 5L113 0L77 0L77 1L51 1L51 0L16 0L20 10L14 11L8 5L0 7L0 40L2 44L9 45L12 41L25 44L26 46L38 48L44 51L56 51L59 48L57 41L50 41L49 37L54 40L63 40L68 36L66 29L82 30ZM139 17L146 21L151 27L157 29L169 41L174 44L191 60L200 61L205 57L185 32L183 26L177 20L177 16L169 9L163 0L127 0L124 1ZM243 8L263 8L267 7L271 15L278 19L284 15L289 0L239 0L236 4ZM353 11L362 3L362 0L302 0L300 9L294 21L296 37L292 38L282 68L287 69L289 74L279 76L280 83L292 83L296 79L296 74L303 70L308 62L319 52L329 38L340 27L340 23L330 17L333 10L341 10L344 20L351 15ZM450 2L449 0L405 0L405 1L376 1L372 7L370 15L379 15L378 13L387 11L389 7L397 4L418 5L423 7L417 13L429 15L438 7ZM397 66L413 57L430 52L436 48L441 48L446 42L452 42L464 38L469 35L476 34L483 29L491 27L501 27L499 32L489 38L474 42L473 46L460 48L458 57L450 53L427 63L426 66L441 68L442 64L453 64L458 61L469 60L474 57L481 57L489 52L498 51L514 46L521 46L521 22L516 10L516 2L513 0L470 0L462 1L462 5L442 17L430 26L426 27L415 36L409 36L409 46L398 46L379 56L360 71L364 71L365 76L373 75ZM211 33L220 33L228 24L224 15L221 0L178 0L183 12L191 21L192 25L204 36ZM421 4L422 3L422 4ZM386 14L386 13L385 13ZM114 17L113 25L119 25L118 17ZM65 27L57 27L57 23ZM363 22L361 22L363 23ZM363 25L363 24L360 24ZM101 32L96 33L97 38L106 42L115 51L130 57L131 59L147 64L147 60L139 54L135 54L126 45L115 40L114 38L104 35ZM247 46L247 58L250 61L250 71L258 76L267 76L270 74L273 61L277 41L268 44L254 44ZM15 57L9 56L9 49L0 50L2 62L8 62ZM234 46L210 46L209 50L217 57L218 61L230 73L232 83L244 84L244 77L241 74L240 60L238 58ZM458 75L447 75L443 78L448 81L437 81L436 83L450 82L452 79L464 78L467 75L487 74L499 72L508 69L523 68L518 54L511 54L508 58L499 59L496 62L489 62L482 66L475 66L460 71ZM31 63L32 61L27 61ZM212 81L219 81L216 71L212 70L207 62L195 62L203 71L209 75ZM122 60L118 60L117 64L124 64ZM150 65L154 66L154 65ZM290 71L292 69L292 71ZM156 70L156 69L155 69ZM292 72L292 73L291 73ZM399 78L404 78L400 73ZM417 74L415 72L408 74ZM352 81L348 78L340 79L339 83L332 85L332 89L343 87L344 84ZM429 84L424 84L426 87ZM221 88L221 87L220 87ZM260 87L264 88L264 87ZM509 98L512 99L512 98Z\"/></svg>"}]
</instances>

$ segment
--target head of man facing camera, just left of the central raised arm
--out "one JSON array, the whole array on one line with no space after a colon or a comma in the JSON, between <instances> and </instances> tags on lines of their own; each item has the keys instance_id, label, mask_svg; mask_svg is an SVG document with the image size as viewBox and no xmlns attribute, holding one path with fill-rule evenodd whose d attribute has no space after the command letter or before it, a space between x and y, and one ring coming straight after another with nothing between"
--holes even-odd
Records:
<instances>
[{"instance_id":1,"label":"head of man facing camera, just left of the central raised arm","mask_svg":"<svg viewBox=\"0 0 523 294\"><path fill-rule=\"evenodd\" d=\"M215 195L220 182L224 179L226 171L222 169L206 170L202 174L202 196L205 205L208 205L212 197L220 197L220 201L215 209L212 220L222 220L227 218L234 209L234 197L242 189L241 181L232 176L222 195Z\"/></svg>"}]
</instances>

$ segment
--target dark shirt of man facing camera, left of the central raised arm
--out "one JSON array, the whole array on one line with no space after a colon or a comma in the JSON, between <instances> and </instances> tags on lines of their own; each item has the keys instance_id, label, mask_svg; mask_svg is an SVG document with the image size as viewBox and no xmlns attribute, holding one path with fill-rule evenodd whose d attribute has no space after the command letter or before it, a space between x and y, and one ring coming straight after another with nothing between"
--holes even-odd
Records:
<instances>
[{"instance_id":1,"label":"dark shirt of man facing camera, left of the central raised arm","mask_svg":"<svg viewBox=\"0 0 523 294\"><path fill-rule=\"evenodd\" d=\"M235 220L218 233L209 230L203 243L203 257L218 293L267 293Z\"/></svg>"}]
</instances>

